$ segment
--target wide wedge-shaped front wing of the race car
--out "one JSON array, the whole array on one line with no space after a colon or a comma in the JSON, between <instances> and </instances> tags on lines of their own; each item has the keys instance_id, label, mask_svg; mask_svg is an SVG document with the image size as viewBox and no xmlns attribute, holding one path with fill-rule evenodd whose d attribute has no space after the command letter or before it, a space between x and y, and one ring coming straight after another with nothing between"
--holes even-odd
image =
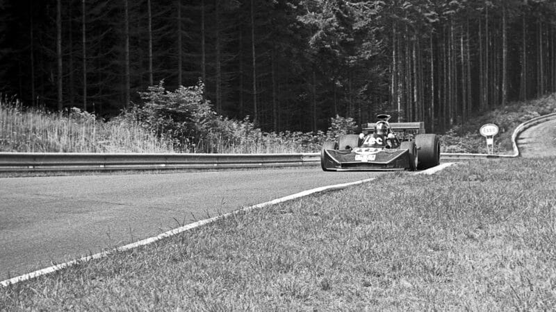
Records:
<instances>
[{"instance_id":1,"label":"wide wedge-shaped front wing of the race car","mask_svg":"<svg viewBox=\"0 0 556 312\"><path fill-rule=\"evenodd\" d=\"M381 150L357 154L352 150L324 150L322 166L330 171L397 171L409 168L409 150Z\"/></svg>"}]
</instances>

